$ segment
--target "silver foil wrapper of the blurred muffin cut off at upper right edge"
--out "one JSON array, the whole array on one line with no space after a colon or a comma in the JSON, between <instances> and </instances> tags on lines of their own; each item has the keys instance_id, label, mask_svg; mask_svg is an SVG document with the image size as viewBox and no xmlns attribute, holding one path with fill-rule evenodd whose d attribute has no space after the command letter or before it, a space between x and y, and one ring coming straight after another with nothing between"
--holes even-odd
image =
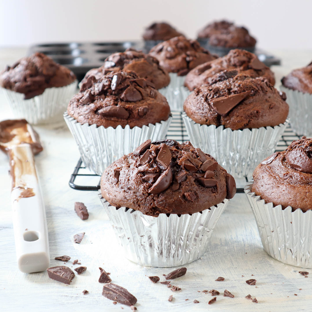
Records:
<instances>
[{"instance_id":1,"label":"silver foil wrapper of the blurred muffin cut off at upper right edge","mask_svg":"<svg viewBox=\"0 0 312 312\"><path fill-rule=\"evenodd\" d=\"M312 94L280 86L286 93L291 128L298 135L312 137Z\"/></svg>"}]
</instances>

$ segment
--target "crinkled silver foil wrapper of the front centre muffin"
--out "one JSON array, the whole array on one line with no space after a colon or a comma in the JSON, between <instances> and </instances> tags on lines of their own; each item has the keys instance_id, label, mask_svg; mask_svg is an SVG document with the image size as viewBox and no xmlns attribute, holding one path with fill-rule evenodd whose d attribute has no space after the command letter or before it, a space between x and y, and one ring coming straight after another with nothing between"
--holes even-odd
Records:
<instances>
[{"instance_id":1,"label":"crinkled silver foil wrapper of the front centre muffin","mask_svg":"<svg viewBox=\"0 0 312 312\"><path fill-rule=\"evenodd\" d=\"M158 217L127 210L99 198L114 228L124 256L143 266L182 266L200 258L209 246L209 239L228 199L192 215L160 214Z\"/></svg>"}]
</instances>

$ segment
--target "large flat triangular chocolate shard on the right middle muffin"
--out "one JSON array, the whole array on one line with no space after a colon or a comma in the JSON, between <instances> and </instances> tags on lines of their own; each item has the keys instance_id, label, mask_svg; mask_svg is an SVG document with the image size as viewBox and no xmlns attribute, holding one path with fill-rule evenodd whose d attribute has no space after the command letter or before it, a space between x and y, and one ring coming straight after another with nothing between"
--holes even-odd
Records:
<instances>
[{"instance_id":1,"label":"large flat triangular chocolate shard on the right middle muffin","mask_svg":"<svg viewBox=\"0 0 312 312\"><path fill-rule=\"evenodd\" d=\"M221 116L226 116L227 113L244 100L251 91L246 91L238 94L225 95L211 100L212 108Z\"/></svg>"}]
</instances>

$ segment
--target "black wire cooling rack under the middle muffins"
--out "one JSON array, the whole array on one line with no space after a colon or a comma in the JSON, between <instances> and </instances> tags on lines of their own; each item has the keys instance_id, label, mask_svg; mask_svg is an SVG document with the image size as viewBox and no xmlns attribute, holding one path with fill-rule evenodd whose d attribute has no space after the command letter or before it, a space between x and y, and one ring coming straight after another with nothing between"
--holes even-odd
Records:
<instances>
[{"instance_id":1,"label":"black wire cooling rack under the middle muffins","mask_svg":"<svg viewBox=\"0 0 312 312\"><path fill-rule=\"evenodd\" d=\"M178 141L179 143L185 142L189 140L188 134L185 129L185 125L182 119L181 112L171 112L172 113L172 121L170 127L168 129L168 133L166 139L173 139ZM282 135L282 138L277 144L276 151L283 151L286 147L293 141L300 139L300 136L295 134L293 130L290 128L288 124L285 132ZM246 182L248 182L248 178L243 178L243 181L236 184L238 186L237 193L243 193L244 188L241 187ZM69 186L74 188L75 190L80 191L98 191L100 189L100 176L92 173L90 170L85 168L81 158L79 158L77 165L74 169L74 172L71 174L71 178L69 180Z\"/></svg>"}]
</instances>

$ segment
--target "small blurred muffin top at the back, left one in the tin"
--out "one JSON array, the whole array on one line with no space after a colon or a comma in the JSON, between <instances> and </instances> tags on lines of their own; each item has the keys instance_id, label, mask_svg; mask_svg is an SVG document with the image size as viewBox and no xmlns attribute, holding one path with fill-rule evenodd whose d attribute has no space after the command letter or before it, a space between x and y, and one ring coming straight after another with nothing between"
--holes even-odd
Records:
<instances>
[{"instance_id":1,"label":"small blurred muffin top at the back, left one in the tin","mask_svg":"<svg viewBox=\"0 0 312 312\"><path fill-rule=\"evenodd\" d=\"M178 32L175 28L165 22L153 23L149 27L145 28L142 35L144 40L168 40L173 37L183 36L181 32Z\"/></svg>"}]
</instances>

